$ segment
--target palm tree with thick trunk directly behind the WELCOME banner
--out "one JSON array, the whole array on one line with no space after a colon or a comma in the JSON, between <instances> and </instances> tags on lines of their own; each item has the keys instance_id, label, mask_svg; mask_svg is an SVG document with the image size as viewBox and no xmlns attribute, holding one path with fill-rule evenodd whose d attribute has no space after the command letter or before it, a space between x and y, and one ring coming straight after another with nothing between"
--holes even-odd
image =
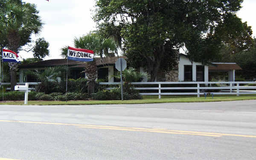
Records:
<instances>
[{"instance_id":1,"label":"palm tree with thick trunk directly behind the WELCOME banner","mask_svg":"<svg viewBox=\"0 0 256 160\"><path fill-rule=\"evenodd\" d=\"M96 34L88 34L74 39L76 48L90 49L95 55L101 58L110 56L111 52L116 50L116 41L109 37L100 39ZM87 62L87 67L84 68L85 75L88 77L88 94L94 93L95 79L97 78L96 61Z\"/></svg>"}]
</instances>

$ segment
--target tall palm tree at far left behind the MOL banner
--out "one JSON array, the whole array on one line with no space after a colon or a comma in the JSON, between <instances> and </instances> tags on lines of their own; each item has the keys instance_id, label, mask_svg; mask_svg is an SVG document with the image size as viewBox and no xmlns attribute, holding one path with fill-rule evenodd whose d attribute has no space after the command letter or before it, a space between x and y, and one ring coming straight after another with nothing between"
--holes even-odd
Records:
<instances>
[{"instance_id":1,"label":"tall palm tree at far left behind the MOL banner","mask_svg":"<svg viewBox=\"0 0 256 160\"><path fill-rule=\"evenodd\" d=\"M18 53L20 47L31 41L32 33L38 34L43 23L38 16L38 11L34 4L17 4L10 1L5 3L5 7L0 9L0 28L5 28L1 34L6 35L6 47ZM11 89L17 82L17 63L8 63L11 73Z\"/></svg>"}]
</instances>

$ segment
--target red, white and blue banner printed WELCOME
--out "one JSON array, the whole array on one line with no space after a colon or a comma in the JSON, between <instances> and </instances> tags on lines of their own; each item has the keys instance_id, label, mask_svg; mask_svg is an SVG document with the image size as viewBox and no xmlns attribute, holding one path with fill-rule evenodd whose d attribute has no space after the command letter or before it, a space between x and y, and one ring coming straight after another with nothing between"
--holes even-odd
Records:
<instances>
[{"instance_id":1,"label":"red, white and blue banner printed WELCOME","mask_svg":"<svg viewBox=\"0 0 256 160\"><path fill-rule=\"evenodd\" d=\"M93 51L88 49L80 49L68 47L67 49L67 59L73 61L93 61Z\"/></svg>"}]
</instances>

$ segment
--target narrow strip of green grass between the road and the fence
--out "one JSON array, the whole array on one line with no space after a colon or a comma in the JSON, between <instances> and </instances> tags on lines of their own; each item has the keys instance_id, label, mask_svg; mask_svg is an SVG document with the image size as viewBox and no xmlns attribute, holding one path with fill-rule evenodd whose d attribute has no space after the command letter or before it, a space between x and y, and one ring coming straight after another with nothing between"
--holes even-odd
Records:
<instances>
[{"instance_id":1,"label":"narrow strip of green grass between the road and the fence","mask_svg":"<svg viewBox=\"0 0 256 160\"><path fill-rule=\"evenodd\" d=\"M99 104L141 104L141 103L169 103L169 102L216 102L216 101L237 101L237 100L249 100L256 99L256 94L251 95L215 95L212 99L212 96L207 96L207 99L204 99L204 96L198 98L197 96L161 96L161 99L158 99L158 96L143 96L143 99L138 100L106 100L106 101L97 101L97 100L88 100L88 101L28 101L28 105L99 105ZM9 101L9 102L0 102L0 105L24 105L24 101Z\"/></svg>"}]
</instances>

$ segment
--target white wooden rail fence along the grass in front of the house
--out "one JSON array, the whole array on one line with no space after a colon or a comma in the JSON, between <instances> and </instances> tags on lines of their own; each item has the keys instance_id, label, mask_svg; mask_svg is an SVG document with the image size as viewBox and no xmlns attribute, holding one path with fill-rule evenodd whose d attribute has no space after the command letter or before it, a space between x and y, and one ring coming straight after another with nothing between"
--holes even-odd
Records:
<instances>
[{"instance_id":1,"label":"white wooden rail fence along the grass in front of the house","mask_svg":"<svg viewBox=\"0 0 256 160\"><path fill-rule=\"evenodd\" d=\"M100 85L116 85L120 82L100 82ZM131 84L158 84L158 87L134 87L135 90L158 90L158 93L140 93L141 95L158 95L161 99L161 95L200 95L212 94L256 94L256 86L241 86L240 84L256 84L254 81L197 81L197 82L132 82ZM197 84L196 87L161 87L161 84ZM204 87L200 87L200 84L205 84ZM212 84L222 84L227 86L211 87ZM207 86L207 87L205 87ZM106 89L111 89L107 87ZM249 89L249 90L248 90ZM162 90L196 90L197 92L164 92ZM208 90L207 92L205 90ZM209 92L211 90L220 90L220 92ZM224 92L228 91L228 92Z\"/></svg>"}]
</instances>

